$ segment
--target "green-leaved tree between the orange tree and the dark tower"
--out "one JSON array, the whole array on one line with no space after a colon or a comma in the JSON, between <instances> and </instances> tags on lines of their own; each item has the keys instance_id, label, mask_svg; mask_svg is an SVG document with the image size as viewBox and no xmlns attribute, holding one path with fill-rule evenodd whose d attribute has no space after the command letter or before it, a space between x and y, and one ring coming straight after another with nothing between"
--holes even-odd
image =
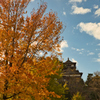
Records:
<instances>
[{"instance_id":1,"label":"green-leaved tree between the orange tree and the dark tower","mask_svg":"<svg viewBox=\"0 0 100 100\"><path fill-rule=\"evenodd\" d=\"M62 71L63 63L59 62L59 60L57 60L56 63L59 63L61 67L57 71L57 74L48 76L50 77L50 80L47 89L61 96L60 98L57 98L50 95L51 100L68 100L68 98L66 97L66 94L68 94L67 84L62 85L59 83L59 79L62 77L61 71Z\"/></svg>"}]
</instances>

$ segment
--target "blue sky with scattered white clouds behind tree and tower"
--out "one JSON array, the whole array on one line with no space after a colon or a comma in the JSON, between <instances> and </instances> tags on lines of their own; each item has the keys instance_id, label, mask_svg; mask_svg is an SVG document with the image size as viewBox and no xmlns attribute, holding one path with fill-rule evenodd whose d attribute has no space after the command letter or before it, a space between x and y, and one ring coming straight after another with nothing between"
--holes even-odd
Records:
<instances>
[{"instance_id":1,"label":"blue sky with scattered white clouds behind tree and tower","mask_svg":"<svg viewBox=\"0 0 100 100\"><path fill-rule=\"evenodd\" d=\"M77 62L77 69L87 79L88 73L100 71L100 0L43 0L46 13L57 13L64 31L60 52L64 62ZM31 0L28 14L39 7L40 0ZM66 28L65 28L66 27Z\"/></svg>"}]
</instances>

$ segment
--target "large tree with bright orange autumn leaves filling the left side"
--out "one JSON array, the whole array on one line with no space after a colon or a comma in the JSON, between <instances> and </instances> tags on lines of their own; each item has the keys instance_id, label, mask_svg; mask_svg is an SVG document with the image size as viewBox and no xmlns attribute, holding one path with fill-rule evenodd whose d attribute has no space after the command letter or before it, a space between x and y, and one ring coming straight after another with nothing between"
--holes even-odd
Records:
<instances>
[{"instance_id":1,"label":"large tree with bright orange autumn leaves filling the left side","mask_svg":"<svg viewBox=\"0 0 100 100\"><path fill-rule=\"evenodd\" d=\"M58 55L56 48L62 23L52 11L44 14L46 3L24 17L30 0L0 0L0 97L3 100L43 100L49 95L46 86L59 65L52 60ZM39 59L40 52L45 57Z\"/></svg>"}]
</instances>

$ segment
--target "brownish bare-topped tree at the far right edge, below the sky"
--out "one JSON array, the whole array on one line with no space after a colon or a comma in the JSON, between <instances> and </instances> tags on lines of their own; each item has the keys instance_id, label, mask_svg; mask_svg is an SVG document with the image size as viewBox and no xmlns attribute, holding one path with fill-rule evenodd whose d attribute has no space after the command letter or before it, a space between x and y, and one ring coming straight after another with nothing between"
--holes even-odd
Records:
<instances>
[{"instance_id":1,"label":"brownish bare-topped tree at the far right edge, below the sky","mask_svg":"<svg viewBox=\"0 0 100 100\"><path fill-rule=\"evenodd\" d=\"M88 74L86 81L85 97L88 100L100 99L100 72Z\"/></svg>"}]
</instances>

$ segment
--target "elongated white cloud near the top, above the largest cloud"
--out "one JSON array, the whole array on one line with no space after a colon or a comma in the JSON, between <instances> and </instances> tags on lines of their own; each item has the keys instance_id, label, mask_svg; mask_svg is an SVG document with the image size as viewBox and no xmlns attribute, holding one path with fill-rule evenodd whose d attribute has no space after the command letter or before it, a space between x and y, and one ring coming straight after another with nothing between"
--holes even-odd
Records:
<instances>
[{"instance_id":1,"label":"elongated white cloud near the top, above the largest cloud","mask_svg":"<svg viewBox=\"0 0 100 100\"><path fill-rule=\"evenodd\" d=\"M83 8L83 7L77 7L76 5L72 6L72 14L86 14L91 12L91 9Z\"/></svg>"}]
</instances>

